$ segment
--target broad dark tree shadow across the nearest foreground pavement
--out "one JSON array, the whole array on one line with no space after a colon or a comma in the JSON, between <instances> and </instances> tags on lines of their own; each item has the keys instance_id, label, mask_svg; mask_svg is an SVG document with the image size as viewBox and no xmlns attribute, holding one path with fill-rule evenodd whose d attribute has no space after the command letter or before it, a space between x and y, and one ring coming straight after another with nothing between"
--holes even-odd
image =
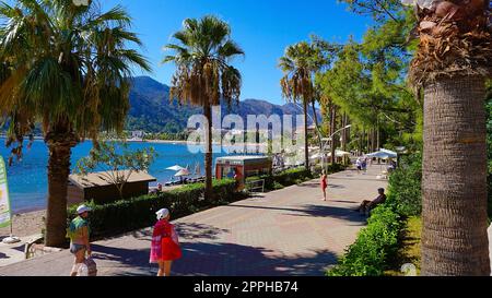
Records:
<instances>
[{"instance_id":1,"label":"broad dark tree shadow across the nearest foreground pavement","mask_svg":"<svg viewBox=\"0 0 492 298\"><path fill-rule=\"evenodd\" d=\"M149 264L149 250L97 247L105 253L99 260L122 263L131 270L113 272L118 276L155 275L156 264ZM270 254L270 255L269 255ZM181 276L323 276L328 265L336 264L330 251L308 251L289 257L271 255L263 248L235 243L183 243L183 258L173 264L173 275ZM101 263L101 262L99 262Z\"/></svg>"}]
</instances>

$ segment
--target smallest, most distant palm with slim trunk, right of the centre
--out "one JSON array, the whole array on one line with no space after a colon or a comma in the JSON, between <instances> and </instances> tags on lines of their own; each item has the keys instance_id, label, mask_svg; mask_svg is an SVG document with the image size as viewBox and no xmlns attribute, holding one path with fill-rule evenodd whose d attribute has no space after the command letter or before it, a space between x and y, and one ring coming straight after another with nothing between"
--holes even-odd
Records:
<instances>
[{"instance_id":1,"label":"smallest, most distant palm with slim trunk, right of the centre","mask_svg":"<svg viewBox=\"0 0 492 298\"><path fill-rule=\"evenodd\" d=\"M303 103L304 111L304 164L309 170L309 152L307 144L307 109L315 98L314 74L323 65L320 50L314 44L301 41L289 46L284 57L280 58L279 68L284 73L280 81L282 95L288 100Z\"/></svg>"}]
</instances>

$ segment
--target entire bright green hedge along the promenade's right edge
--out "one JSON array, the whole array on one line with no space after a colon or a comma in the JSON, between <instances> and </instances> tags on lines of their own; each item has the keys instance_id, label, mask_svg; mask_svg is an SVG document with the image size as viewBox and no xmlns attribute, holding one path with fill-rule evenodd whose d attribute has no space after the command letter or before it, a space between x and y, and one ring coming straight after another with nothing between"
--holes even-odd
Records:
<instances>
[{"instance_id":1,"label":"entire bright green hedge along the promenade's right edge","mask_svg":"<svg viewBox=\"0 0 492 298\"><path fill-rule=\"evenodd\" d=\"M422 157L420 154L401 159L389 177L388 200L375 208L355 242L339 263L327 272L329 276L380 276L396 258L405 219L422 211Z\"/></svg>"}]
</instances>

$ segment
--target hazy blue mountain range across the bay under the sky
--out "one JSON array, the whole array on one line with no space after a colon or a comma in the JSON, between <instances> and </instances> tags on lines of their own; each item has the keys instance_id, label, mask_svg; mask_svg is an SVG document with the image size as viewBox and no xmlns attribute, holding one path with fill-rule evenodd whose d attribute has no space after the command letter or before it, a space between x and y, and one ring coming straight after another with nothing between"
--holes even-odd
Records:
<instances>
[{"instance_id":1,"label":"hazy blue mountain range across the bay under the sky","mask_svg":"<svg viewBox=\"0 0 492 298\"><path fill-rule=\"evenodd\" d=\"M130 111L127 120L128 130L176 133L186 129L189 117L201 112L202 108L200 107L181 106L177 100L171 102L169 86L152 78L136 76L132 79ZM230 108L222 105L222 116L227 114L239 115L246 123L248 115L296 116L302 114L302 109L292 103L274 105L263 99L244 99ZM317 114L319 116L319 111ZM311 109L309 115L312 116ZM312 123L311 117L308 117L308 122Z\"/></svg>"}]
</instances>

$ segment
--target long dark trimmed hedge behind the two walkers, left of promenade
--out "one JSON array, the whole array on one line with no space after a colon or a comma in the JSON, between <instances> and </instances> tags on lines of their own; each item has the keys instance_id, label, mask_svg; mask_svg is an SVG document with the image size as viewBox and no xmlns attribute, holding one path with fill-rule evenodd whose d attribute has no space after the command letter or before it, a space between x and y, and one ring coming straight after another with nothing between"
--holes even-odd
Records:
<instances>
[{"instance_id":1,"label":"long dark trimmed hedge behind the two walkers, left of promenade","mask_svg":"<svg viewBox=\"0 0 492 298\"><path fill-rule=\"evenodd\" d=\"M148 194L104 205L92 202L91 236L101 238L152 226L155 224L155 212L163 207L171 211L173 218L178 218L207 207L233 202L241 199L235 189L234 180L215 180L213 201L202 200L204 184L196 183L160 194ZM69 208L69 218L75 216L75 210L77 206Z\"/></svg>"}]
</instances>

